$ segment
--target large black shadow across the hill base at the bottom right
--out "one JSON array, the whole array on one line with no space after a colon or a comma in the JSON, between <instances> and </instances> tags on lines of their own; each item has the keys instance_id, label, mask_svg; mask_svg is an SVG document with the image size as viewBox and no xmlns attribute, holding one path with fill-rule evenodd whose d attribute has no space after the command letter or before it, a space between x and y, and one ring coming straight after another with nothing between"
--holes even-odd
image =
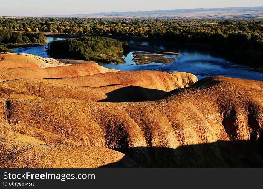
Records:
<instances>
[{"instance_id":1,"label":"large black shadow across the hill base at the bottom right","mask_svg":"<svg viewBox=\"0 0 263 189\"><path fill-rule=\"evenodd\" d=\"M117 168L127 157L143 168L263 168L263 142L222 141L181 146L114 149L126 154L119 162L100 168ZM126 165L124 167L132 167ZM136 167L136 166L134 166Z\"/></svg>"}]
</instances>

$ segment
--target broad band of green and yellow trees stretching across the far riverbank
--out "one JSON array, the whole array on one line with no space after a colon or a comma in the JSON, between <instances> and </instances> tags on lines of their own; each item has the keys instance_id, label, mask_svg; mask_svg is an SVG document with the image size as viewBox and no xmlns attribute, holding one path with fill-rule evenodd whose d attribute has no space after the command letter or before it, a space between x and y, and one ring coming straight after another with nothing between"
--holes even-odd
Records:
<instances>
[{"instance_id":1,"label":"broad band of green and yellow trees stretching across the far riverbank","mask_svg":"<svg viewBox=\"0 0 263 189\"><path fill-rule=\"evenodd\" d=\"M2 18L0 30L69 35L113 34L263 51L263 20Z\"/></svg>"}]
</instances>

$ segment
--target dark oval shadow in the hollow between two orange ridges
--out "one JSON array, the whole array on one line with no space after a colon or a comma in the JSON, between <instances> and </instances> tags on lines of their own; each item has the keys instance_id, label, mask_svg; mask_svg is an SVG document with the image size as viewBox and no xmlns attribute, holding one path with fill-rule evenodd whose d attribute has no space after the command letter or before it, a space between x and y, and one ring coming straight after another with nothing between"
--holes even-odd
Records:
<instances>
[{"instance_id":1,"label":"dark oval shadow in the hollow between two orange ridges","mask_svg":"<svg viewBox=\"0 0 263 189\"><path fill-rule=\"evenodd\" d=\"M107 93L100 102L141 102L161 99L167 92L138 86L126 86Z\"/></svg>"}]
</instances>

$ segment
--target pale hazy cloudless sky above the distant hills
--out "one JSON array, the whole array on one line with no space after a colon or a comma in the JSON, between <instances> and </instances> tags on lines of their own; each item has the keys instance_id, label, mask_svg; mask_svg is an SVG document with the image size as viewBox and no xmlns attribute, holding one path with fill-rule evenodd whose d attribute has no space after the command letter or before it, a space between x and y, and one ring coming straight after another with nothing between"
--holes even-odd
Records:
<instances>
[{"instance_id":1,"label":"pale hazy cloudless sky above the distant hills","mask_svg":"<svg viewBox=\"0 0 263 189\"><path fill-rule=\"evenodd\" d=\"M0 0L0 16L263 6L262 0Z\"/></svg>"}]
</instances>

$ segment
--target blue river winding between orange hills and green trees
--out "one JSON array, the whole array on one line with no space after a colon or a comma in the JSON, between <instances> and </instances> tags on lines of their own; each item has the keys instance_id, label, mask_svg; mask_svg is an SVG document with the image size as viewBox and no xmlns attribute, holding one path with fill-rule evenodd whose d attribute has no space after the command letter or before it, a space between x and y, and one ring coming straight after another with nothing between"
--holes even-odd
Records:
<instances>
[{"instance_id":1,"label":"blue river winding between orange hills and green trees","mask_svg":"<svg viewBox=\"0 0 263 189\"><path fill-rule=\"evenodd\" d=\"M61 40L64 38L47 38L47 42L53 40ZM164 44L150 43L147 41L129 41L129 43L137 43L143 45L149 45L155 48L166 49ZM25 48L14 48L16 53L29 53L33 55L39 55L44 58L50 58L45 51L45 47L25 47ZM169 58L175 58L175 61L166 65L160 63L150 63L146 65L137 65L132 61L132 53L136 51L131 51L127 56L123 56L125 64L102 64L104 67L111 69L118 69L121 71L137 71L137 70L155 70L163 72L189 72L196 75L198 79L207 76L227 76L233 78L242 78L249 80L263 81L263 73L258 72L256 69L249 68L248 66L241 64L234 64L226 58L212 55L210 52L200 51L198 49L187 49L175 47L175 52L179 52L182 55L166 55Z\"/></svg>"}]
</instances>

